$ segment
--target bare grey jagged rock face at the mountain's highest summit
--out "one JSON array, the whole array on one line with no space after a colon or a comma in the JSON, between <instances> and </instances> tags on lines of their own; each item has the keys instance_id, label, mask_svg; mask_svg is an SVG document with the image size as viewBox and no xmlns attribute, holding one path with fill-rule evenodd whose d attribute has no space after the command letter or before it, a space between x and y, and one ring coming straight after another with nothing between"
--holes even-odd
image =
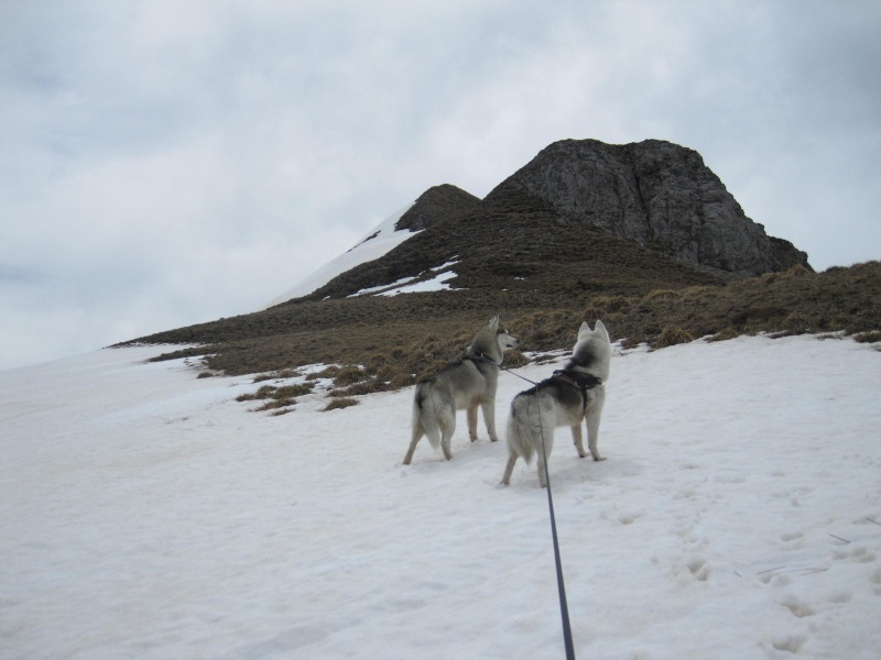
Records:
<instances>
[{"instance_id":1,"label":"bare grey jagged rock face at the mountain's highest summit","mask_svg":"<svg viewBox=\"0 0 881 660\"><path fill-rule=\"evenodd\" d=\"M564 140L501 186L540 197L572 221L722 277L807 266L804 252L747 218L700 154L670 142Z\"/></svg>"}]
</instances>

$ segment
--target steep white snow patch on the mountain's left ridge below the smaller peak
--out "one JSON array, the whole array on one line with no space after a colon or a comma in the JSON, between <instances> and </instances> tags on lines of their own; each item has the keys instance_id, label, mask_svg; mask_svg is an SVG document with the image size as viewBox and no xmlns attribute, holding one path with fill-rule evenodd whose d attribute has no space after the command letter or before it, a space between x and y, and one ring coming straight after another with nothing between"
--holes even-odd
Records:
<instances>
[{"instance_id":1,"label":"steep white snow patch on the mountain's left ridge below the smaller peak","mask_svg":"<svg viewBox=\"0 0 881 660\"><path fill-rule=\"evenodd\" d=\"M308 275L305 279L300 282L293 288L286 290L278 298L273 298L262 309L267 309L274 305L281 305L292 298L300 298L308 296L312 292L323 287L340 273L350 271L355 266L366 264L373 260L383 256L398 248L407 239L414 237L418 232L410 230L395 231L394 226L401 217L410 210L413 204L409 204L396 213L389 216L385 220L380 222L373 230L361 239L355 248L340 254L336 258L330 260L324 266Z\"/></svg>"}]
</instances>

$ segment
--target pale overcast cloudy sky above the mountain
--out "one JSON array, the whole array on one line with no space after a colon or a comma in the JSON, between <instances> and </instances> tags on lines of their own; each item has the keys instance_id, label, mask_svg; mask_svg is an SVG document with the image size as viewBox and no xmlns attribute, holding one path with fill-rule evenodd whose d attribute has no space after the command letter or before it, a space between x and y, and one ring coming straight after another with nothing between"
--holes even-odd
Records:
<instances>
[{"instance_id":1,"label":"pale overcast cloudy sky above the mountain","mask_svg":"<svg viewBox=\"0 0 881 660\"><path fill-rule=\"evenodd\" d=\"M881 258L881 2L0 2L0 369L252 311L426 188L697 150L817 270Z\"/></svg>"}]
</instances>

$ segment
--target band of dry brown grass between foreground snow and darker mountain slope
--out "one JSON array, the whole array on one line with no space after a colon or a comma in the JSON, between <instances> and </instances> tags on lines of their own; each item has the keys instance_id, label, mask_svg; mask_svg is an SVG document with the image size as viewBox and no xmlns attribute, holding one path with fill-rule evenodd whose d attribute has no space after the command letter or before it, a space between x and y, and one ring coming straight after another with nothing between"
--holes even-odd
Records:
<instances>
[{"instance_id":1,"label":"band of dry brown grass between foreground snow and darker mountain slope","mask_svg":"<svg viewBox=\"0 0 881 660\"><path fill-rule=\"evenodd\" d=\"M273 315L269 320L249 316L235 323L217 321L206 330L217 343L160 359L204 355L207 369L227 374L281 373L305 364L336 363L341 366L309 377L335 378L336 394L345 396L412 385L460 358L477 329L494 314L501 314L523 352L570 349L581 321L592 324L597 318L613 340L626 340L627 345L661 345L667 341L665 330L672 328L715 340L758 332L844 331L874 337L881 330L880 262L824 273L795 267L724 286L651 286L633 295L583 292L569 295L567 305L541 294L466 290L301 301L273 308L285 322L298 319L287 331L276 326L281 319ZM221 331L225 338L217 334ZM200 332L194 327L175 331L173 338L206 339ZM171 339L167 333L161 337ZM519 351L505 354L509 366L525 362ZM356 385L356 391L348 389Z\"/></svg>"}]
</instances>

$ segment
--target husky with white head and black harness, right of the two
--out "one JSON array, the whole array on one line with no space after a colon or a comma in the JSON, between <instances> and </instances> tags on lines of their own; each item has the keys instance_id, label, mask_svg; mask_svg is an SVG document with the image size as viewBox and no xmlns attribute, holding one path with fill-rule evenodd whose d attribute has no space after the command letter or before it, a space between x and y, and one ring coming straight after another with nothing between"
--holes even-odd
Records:
<instances>
[{"instance_id":1,"label":"husky with white head and black harness, right of the two","mask_svg":"<svg viewBox=\"0 0 881 660\"><path fill-rule=\"evenodd\" d=\"M535 387L518 394L511 402L511 414L508 417L508 464L504 466L502 484L511 481L511 472L519 457L526 463L532 454L539 457L539 483L544 488L544 455L551 455L554 447L554 429L567 426L572 428L572 438L578 455L585 458L581 440L581 420L587 419L587 447L595 461L602 461L597 450L599 418L602 404L606 402L606 381L609 380L609 362L611 342L602 321L597 321L594 329L581 323L578 341L572 351L572 358L565 369L542 381Z\"/></svg>"}]
</instances>

